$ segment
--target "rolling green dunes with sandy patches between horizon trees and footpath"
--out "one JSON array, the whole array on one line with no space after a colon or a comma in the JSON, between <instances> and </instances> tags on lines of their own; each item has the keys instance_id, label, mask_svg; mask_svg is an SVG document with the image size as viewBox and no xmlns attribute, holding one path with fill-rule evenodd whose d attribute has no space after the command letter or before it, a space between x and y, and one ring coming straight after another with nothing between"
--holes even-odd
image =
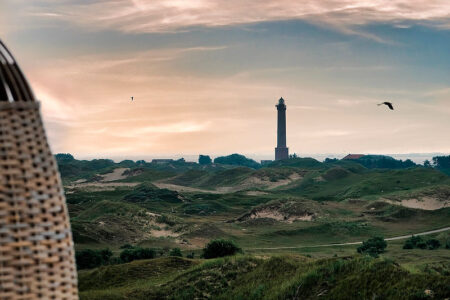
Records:
<instances>
[{"instance_id":1,"label":"rolling green dunes with sandy patches between horizon trees and footpath","mask_svg":"<svg viewBox=\"0 0 450 300\"><path fill-rule=\"evenodd\" d=\"M62 160L62 161L61 161ZM450 178L310 158L267 167L59 158L77 248L354 241L448 226ZM64 174L73 173L77 175ZM93 170L97 170L95 173ZM85 178L80 178L84 174Z\"/></svg>"}]
</instances>

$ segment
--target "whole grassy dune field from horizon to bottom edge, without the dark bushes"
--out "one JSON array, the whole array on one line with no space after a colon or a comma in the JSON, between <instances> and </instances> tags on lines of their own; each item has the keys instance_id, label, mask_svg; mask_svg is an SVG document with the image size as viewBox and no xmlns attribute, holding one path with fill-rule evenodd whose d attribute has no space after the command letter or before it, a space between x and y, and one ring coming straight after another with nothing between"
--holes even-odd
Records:
<instances>
[{"instance_id":1,"label":"whole grassy dune field from horizon to bottom edge, without the dark bushes","mask_svg":"<svg viewBox=\"0 0 450 300\"><path fill-rule=\"evenodd\" d=\"M450 177L437 169L313 159L258 169L79 162L59 162L71 168L62 174L76 249L109 248L117 257L131 244L158 253L81 270L82 299L450 296L445 247L406 250L394 240L375 259L357 255L357 245L333 245L449 227ZM445 245L448 233L427 238ZM216 238L235 241L244 255L200 259ZM168 256L175 247L195 258Z\"/></svg>"}]
</instances>

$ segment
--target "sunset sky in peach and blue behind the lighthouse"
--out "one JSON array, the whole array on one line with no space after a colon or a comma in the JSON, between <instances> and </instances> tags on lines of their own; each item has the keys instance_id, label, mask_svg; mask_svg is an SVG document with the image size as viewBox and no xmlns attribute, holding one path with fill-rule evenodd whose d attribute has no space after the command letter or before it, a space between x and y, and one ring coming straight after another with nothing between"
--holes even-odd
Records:
<instances>
[{"instance_id":1,"label":"sunset sky in peach and blue behind the lighthouse","mask_svg":"<svg viewBox=\"0 0 450 300\"><path fill-rule=\"evenodd\" d=\"M450 153L448 0L0 0L0 38L55 153L271 158L281 96L291 153Z\"/></svg>"}]
</instances>

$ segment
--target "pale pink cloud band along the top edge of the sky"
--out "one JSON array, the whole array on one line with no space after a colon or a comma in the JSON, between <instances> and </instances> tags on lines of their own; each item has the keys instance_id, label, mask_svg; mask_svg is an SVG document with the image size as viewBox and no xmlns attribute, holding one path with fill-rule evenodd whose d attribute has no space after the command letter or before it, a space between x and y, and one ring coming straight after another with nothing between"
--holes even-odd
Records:
<instances>
[{"instance_id":1,"label":"pale pink cloud band along the top edge of the sky","mask_svg":"<svg viewBox=\"0 0 450 300\"><path fill-rule=\"evenodd\" d=\"M375 40L379 38L352 26L389 22L405 27L407 21L424 21L447 28L450 24L448 0L39 0L26 13L93 30L134 33L303 19Z\"/></svg>"}]
</instances>

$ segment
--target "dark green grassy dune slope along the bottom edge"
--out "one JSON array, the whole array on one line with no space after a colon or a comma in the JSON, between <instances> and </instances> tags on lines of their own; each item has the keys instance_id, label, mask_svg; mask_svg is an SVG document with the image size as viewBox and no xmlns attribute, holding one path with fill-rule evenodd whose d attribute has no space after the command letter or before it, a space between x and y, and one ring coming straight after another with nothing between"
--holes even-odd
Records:
<instances>
[{"instance_id":1,"label":"dark green grassy dune slope along the bottom edge","mask_svg":"<svg viewBox=\"0 0 450 300\"><path fill-rule=\"evenodd\" d=\"M449 284L439 273L411 273L390 259L359 255L160 258L79 276L81 299L422 299L425 290L443 299Z\"/></svg>"}]
</instances>

